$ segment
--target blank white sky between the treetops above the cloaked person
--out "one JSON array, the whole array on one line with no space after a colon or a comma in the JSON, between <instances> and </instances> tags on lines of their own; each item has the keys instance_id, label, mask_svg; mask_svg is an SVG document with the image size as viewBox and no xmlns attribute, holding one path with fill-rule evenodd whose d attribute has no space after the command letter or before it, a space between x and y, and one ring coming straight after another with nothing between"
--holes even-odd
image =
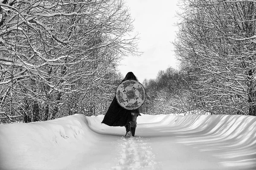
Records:
<instances>
[{"instance_id":1,"label":"blank white sky between the treetops above the cloaked person","mask_svg":"<svg viewBox=\"0 0 256 170\"><path fill-rule=\"evenodd\" d=\"M134 21L134 33L140 34L140 57L127 57L120 62L119 71L125 76L132 71L140 82L154 79L158 71L177 68L172 41L177 27L178 0L127 0Z\"/></svg>"}]
</instances>

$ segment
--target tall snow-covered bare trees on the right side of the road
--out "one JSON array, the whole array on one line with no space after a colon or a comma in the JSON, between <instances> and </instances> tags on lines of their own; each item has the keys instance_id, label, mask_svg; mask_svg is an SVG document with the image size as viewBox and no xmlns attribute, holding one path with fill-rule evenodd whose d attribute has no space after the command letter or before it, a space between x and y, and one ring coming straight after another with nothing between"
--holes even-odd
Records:
<instances>
[{"instance_id":1,"label":"tall snow-covered bare trees on the right side of the road","mask_svg":"<svg viewBox=\"0 0 256 170\"><path fill-rule=\"evenodd\" d=\"M183 0L176 54L212 113L256 115L256 1Z\"/></svg>"}]
</instances>

